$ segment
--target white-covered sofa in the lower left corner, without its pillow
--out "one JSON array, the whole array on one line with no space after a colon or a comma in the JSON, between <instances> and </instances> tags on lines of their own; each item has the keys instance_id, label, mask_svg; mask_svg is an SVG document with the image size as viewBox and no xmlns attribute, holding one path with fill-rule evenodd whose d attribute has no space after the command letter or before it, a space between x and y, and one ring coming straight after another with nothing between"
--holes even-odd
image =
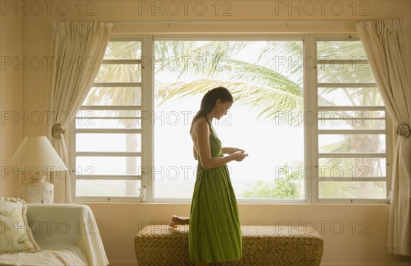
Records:
<instances>
[{"instance_id":1,"label":"white-covered sofa in the lower left corner, without its pillow","mask_svg":"<svg viewBox=\"0 0 411 266\"><path fill-rule=\"evenodd\" d=\"M88 206L27 204L27 221L41 251L3 254L0 265L108 265Z\"/></svg>"}]
</instances>

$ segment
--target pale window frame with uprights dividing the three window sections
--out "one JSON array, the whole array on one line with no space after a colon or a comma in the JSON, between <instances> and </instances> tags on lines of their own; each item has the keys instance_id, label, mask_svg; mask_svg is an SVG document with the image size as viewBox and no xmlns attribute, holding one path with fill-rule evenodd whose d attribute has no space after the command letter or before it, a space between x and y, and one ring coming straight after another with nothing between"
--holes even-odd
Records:
<instances>
[{"instance_id":1,"label":"pale window frame with uprights dividing the three window sections","mask_svg":"<svg viewBox=\"0 0 411 266\"><path fill-rule=\"evenodd\" d=\"M356 34L112 34L112 40L140 40L142 42L142 58L149 58L148 64L142 65L141 73L141 111L153 114L154 110L154 42L156 40L301 40L303 41L303 58L317 58L316 42L319 40L359 40ZM317 66L317 62L316 62ZM304 112L318 112L317 67L310 71L303 66ZM309 97L308 97L309 95ZM304 164L315 167L319 162L318 119L313 125L304 123ZM142 149L141 164L153 169L154 162L154 124L149 119L141 121ZM75 169L75 119L70 125L70 165ZM393 141L392 121L386 115L386 195L390 190L391 154ZM74 202L152 202L152 203L190 203L191 199L155 198L153 195L155 180L151 171L141 173L141 188L145 189L142 197L76 197L75 173L71 173L72 195ZM388 199L319 199L319 178L305 180L305 199L237 199L238 203L252 204L387 204Z\"/></svg>"}]
</instances>

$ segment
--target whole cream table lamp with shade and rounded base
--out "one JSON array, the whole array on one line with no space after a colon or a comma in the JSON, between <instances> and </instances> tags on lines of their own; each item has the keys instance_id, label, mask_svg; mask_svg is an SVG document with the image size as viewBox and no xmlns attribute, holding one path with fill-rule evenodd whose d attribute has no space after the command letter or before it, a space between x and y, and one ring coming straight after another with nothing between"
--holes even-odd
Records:
<instances>
[{"instance_id":1,"label":"whole cream table lamp with shade and rounded base","mask_svg":"<svg viewBox=\"0 0 411 266\"><path fill-rule=\"evenodd\" d=\"M45 182L44 173L69 171L46 136L26 136L8 162L14 171L29 173L31 182L23 184L27 203L53 203L54 185Z\"/></svg>"}]
</instances>

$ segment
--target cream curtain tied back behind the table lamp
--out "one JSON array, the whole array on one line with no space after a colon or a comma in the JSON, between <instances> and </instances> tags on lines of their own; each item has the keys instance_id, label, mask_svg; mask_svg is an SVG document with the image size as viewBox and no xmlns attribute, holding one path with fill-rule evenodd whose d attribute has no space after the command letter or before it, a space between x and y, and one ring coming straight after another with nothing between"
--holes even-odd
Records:
<instances>
[{"instance_id":1,"label":"cream curtain tied back behind the table lamp","mask_svg":"<svg viewBox=\"0 0 411 266\"><path fill-rule=\"evenodd\" d=\"M45 123L45 135L69 167L64 134L61 134L61 139L54 138L51 129L60 123L64 130L75 118L99 71L112 23L52 21L52 26L51 56L54 63L47 88L46 110L50 121ZM71 175L73 170L70 169ZM57 188L55 191L64 193L64 196L55 195L56 202L71 202L69 176L52 175L51 182Z\"/></svg>"}]
</instances>

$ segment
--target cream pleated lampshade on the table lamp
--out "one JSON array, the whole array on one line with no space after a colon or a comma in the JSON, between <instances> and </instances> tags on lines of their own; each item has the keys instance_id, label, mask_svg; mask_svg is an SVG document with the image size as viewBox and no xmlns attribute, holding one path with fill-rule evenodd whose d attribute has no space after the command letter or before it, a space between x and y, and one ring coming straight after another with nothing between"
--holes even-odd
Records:
<instances>
[{"instance_id":1,"label":"cream pleated lampshade on the table lamp","mask_svg":"<svg viewBox=\"0 0 411 266\"><path fill-rule=\"evenodd\" d=\"M18 167L19 171L34 167L45 171L69 170L46 136L26 136L8 166Z\"/></svg>"}]
</instances>

